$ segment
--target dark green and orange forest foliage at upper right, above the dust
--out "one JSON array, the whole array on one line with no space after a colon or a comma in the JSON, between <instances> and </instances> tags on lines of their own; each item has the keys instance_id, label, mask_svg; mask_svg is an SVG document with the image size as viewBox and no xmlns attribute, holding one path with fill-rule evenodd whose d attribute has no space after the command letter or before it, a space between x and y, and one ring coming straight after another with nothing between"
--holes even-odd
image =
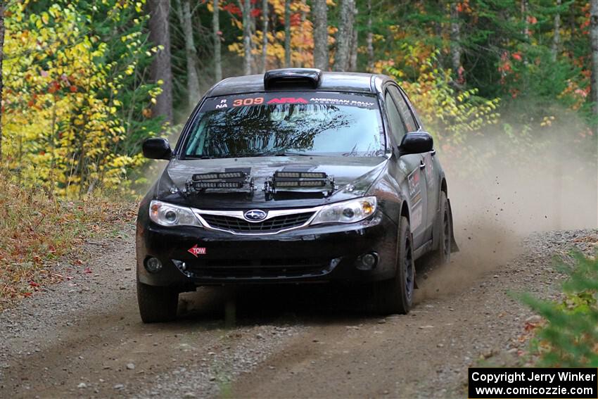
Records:
<instances>
[{"instance_id":1,"label":"dark green and orange forest foliage at upper right, above the dust","mask_svg":"<svg viewBox=\"0 0 598 399\"><path fill-rule=\"evenodd\" d=\"M483 99L500 98L503 106L514 103L509 114L518 114L519 124L556 115L555 108L580 111L592 122L587 2L526 4L522 11L519 0L415 1L408 6L382 1L374 15L374 69L382 72L390 65L404 74L403 80L416 80L419 68L406 59L416 56L423 65L435 54L456 91L477 89L476 96ZM560 27L555 44L556 15ZM461 53L459 67L452 59L455 47ZM362 66L367 65L364 58Z\"/></svg>"}]
</instances>

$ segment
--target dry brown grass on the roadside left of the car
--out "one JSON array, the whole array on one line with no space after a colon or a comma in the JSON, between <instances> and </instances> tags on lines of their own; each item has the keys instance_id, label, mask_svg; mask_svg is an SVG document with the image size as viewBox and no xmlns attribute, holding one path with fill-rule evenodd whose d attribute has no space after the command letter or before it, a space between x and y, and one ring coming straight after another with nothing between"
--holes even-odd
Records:
<instances>
[{"instance_id":1,"label":"dry brown grass on the roadside left of the car","mask_svg":"<svg viewBox=\"0 0 598 399\"><path fill-rule=\"evenodd\" d=\"M68 256L83 267L77 250L132 222L132 201L51 198L41 189L25 190L0 175L0 310L63 276L53 262Z\"/></svg>"}]
</instances>

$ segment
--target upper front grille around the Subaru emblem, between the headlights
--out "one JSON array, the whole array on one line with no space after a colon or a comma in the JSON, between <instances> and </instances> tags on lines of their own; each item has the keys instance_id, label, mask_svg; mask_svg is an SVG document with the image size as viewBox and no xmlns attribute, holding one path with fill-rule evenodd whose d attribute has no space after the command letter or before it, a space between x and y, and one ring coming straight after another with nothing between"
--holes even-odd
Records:
<instances>
[{"instance_id":1,"label":"upper front grille around the Subaru emblem, between the headlights","mask_svg":"<svg viewBox=\"0 0 598 399\"><path fill-rule=\"evenodd\" d=\"M272 217L263 222L248 222L238 217L223 216L223 215L207 215L203 214L203 220L214 229L228 230L235 233L272 233L279 232L284 229L291 229L305 224L310 217L314 215L313 212L295 213L293 215L283 215Z\"/></svg>"}]
</instances>

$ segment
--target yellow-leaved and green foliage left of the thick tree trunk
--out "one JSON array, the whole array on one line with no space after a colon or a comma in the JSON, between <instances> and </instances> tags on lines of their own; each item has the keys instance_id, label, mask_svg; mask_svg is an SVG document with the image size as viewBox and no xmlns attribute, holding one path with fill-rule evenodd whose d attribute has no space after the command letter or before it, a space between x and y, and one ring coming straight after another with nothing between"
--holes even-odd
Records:
<instances>
[{"instance_id":1,"label":"yellow-leaved and green foliage left of the thick tree trunk","mask_svg":"<svg viewBox=\"0 0 598 399\"><path fill-rule=\"evenodd\" d=\"M126 177L144 163L140 142L160 127L148 109L160 89L146 83L155 49L143 3L8 6L2 122L16 182L71 197L98 188L128 192Z\"/></svg>"}]
</instances>

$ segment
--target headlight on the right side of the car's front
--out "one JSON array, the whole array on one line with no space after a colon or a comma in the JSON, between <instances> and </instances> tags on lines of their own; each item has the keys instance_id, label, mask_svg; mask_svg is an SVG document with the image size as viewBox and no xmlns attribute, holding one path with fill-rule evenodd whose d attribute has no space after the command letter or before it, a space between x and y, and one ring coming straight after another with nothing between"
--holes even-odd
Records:
<instances>
[{"instance_id":1,"label":"headlight on the right side of the car's front","mask_svg":"<svg viewBox=\"0 0 598 399\"><path fill-rule=\"evenodd\" d=\"M376 197L357 198L325 205L319 210L312 224L319 223L355 223L374 215L376 212Z\"/></svg>"}]
</instances>

